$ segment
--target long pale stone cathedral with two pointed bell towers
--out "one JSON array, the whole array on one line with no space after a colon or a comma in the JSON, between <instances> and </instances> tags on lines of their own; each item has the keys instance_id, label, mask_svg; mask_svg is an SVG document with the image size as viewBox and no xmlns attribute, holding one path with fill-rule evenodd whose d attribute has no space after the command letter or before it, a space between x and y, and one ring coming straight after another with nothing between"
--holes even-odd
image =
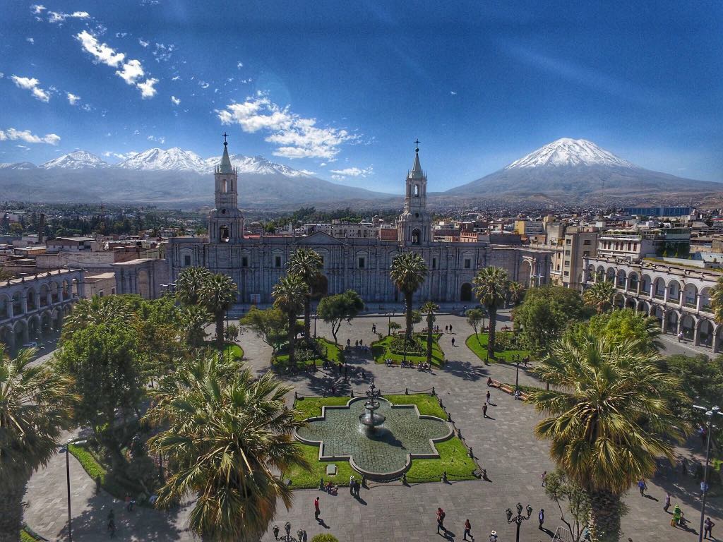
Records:
<instances>
[{"instance_id":1,"label":"long pale stone cathedral with two pointed bell towers","mask_svg":"<svg viewBox=\"0 0 723 542\"><path fill-rule=\"evenodd\" d=\"M403 301L389 278L392 260L403 251L421 254L429 275L415 294L416 301L473 302L472 278L482 267L503 267L524 285L547 283L550 254L523 246L477 242L434 241L427 210L427 176L419 162L406 176L404 209L397 220L397 239L335 238L317 232L306 237L244 235L244 216L238 208L238 174L223 143L221 163L213 173L215 209L208 217L208 241L171 238L166 253L168 275L175 282L184 267L208 267L229 275L239 287L239 304L269 304L273 285L286 273L291 254L304 246L323 259L320 293L359 292L367 304Z\"/></svg>"}]
</instances>

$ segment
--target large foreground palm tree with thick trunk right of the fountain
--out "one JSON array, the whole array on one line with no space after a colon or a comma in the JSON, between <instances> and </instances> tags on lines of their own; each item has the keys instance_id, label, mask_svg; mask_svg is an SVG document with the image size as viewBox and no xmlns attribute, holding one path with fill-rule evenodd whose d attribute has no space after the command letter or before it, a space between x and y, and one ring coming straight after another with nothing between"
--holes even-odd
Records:
<instances>
[{"instance_id":1,"label":"large foreground palm tree with thick trunk right of the fountain","mask_svg":"<svg viewBox=\"0 0 723 542\"><path fill-rule=\"evenodd\" d=\"M676 377L659 369L656 352L636 341L620 344L587 335L554 343L536 374L554 390L530 396L549 418L535 434L591 502L594 542L617 541L620 496L656 471L657 457L673 460L673 443L687 428L671 406L684 400Z\"/></svg>"}]
</instances>

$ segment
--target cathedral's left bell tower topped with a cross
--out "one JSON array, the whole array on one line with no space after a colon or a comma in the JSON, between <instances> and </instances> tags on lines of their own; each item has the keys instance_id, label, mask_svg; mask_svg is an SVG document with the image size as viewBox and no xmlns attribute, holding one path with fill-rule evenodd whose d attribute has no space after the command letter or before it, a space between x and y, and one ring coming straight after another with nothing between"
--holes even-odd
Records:
<instances>
[{"instance_id":1,"label":"cathedral's left bell tower topped with a cross","mask_svg":"<svg viewBox=\"0 0 723 542\"><path fill-rule=\"evenodd\" d=\"M223 156L215 166L216 207L208 215L208 237L212 243L236 243L244 238L244 215L239 211L239 176L228 158L228 134L223 134Z\"/></svg>"}]
</instances>

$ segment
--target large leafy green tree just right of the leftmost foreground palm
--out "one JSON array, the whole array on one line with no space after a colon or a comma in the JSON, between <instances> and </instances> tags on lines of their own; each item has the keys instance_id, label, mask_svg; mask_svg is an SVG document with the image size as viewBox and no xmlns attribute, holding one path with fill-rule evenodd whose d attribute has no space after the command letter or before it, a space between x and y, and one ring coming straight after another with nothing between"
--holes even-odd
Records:
<instances>
[{"instance_id":1,"label":"large leafy green tree just right of the leftmost foreground palm","mask_svg":"<svg viewBox=\"0 0 723 542\"><path fill-rule=\"evenodd\" d=\"M137 334L122 323L77 330L56 353L57 368L72 377L72 392L80 396L76 420L93 428L98 442L108 448L114 468L123 463L121 446L127 437L125 423L116 427L116 411L126 421L137 413L143 396L137 356Z\"/></svg>"}]
</instances>

